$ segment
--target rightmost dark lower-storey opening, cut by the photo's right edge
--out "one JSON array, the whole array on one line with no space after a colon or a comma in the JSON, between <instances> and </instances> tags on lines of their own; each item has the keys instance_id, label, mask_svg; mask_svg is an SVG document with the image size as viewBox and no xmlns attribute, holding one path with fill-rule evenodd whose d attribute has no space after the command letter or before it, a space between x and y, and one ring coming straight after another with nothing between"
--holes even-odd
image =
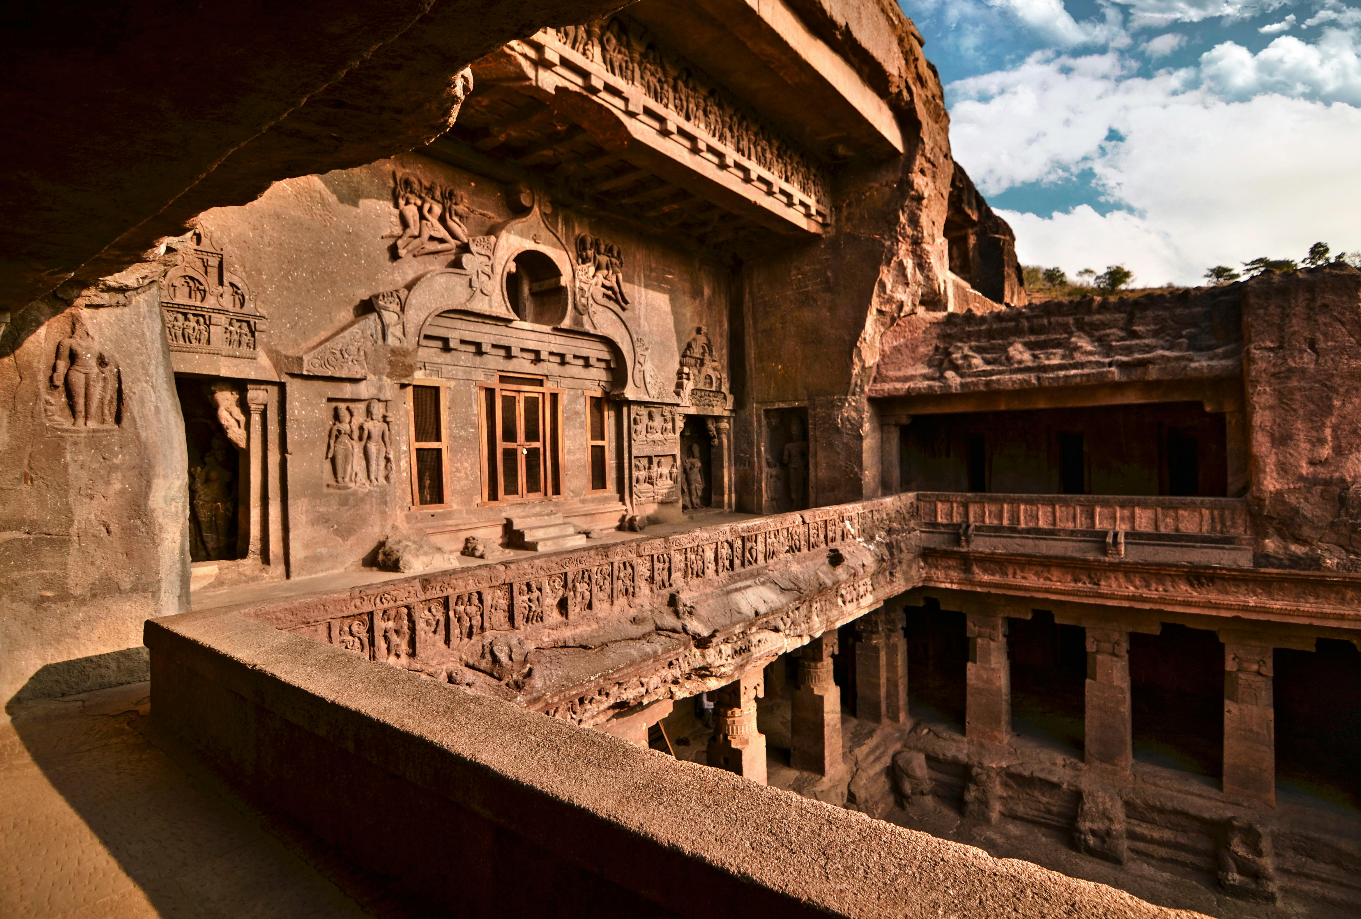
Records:
<instances>
[{"instance_id":1,"label":"rightmost dark lower-storey opening, cut by the photo's right edge","mask_svg":"<svg viewBox=\"0 0 1361 919\"><path fill-rule=\"evenodd\" d=\"M1361 653L1320 638L1312 653L1274 657L1277 783L1361 809Z\"/></svg>"}]
</instances>

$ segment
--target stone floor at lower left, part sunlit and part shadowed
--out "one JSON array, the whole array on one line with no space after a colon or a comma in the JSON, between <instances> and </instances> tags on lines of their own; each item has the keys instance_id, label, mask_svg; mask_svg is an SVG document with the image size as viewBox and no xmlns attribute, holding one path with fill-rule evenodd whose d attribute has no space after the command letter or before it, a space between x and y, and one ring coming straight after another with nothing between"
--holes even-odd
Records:
<instances>
[{"instance_id":1,"label":"stone floor at lower left, part sunlit and part shadowed","mask_svg":"<svg viewBox=\"0 0 1361 919\"><path fill-rule=\"evenodd\" d=\"M0 915L376 915L155 735L148 682L8 710Z\"/></svg>"}]
</instances>

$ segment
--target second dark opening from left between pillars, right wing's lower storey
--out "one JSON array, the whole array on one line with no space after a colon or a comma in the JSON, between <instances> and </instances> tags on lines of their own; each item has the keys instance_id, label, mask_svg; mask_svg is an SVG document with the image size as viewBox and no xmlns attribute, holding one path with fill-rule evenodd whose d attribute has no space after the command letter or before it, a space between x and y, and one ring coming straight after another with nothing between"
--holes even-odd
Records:
<instances>
[{"instance_id":1,"label":"second dark opening from left between pillars, right wing's lower storey","mask_svg":"<svg viewBox=\"0 0 1361 919\"><path fill-rule=\"evenodd\" d=\"M1011 659L1011 730L1082 756L1086 712L1087 639L1078 625L1060 625L1053 613L1007 624Z\"/></svg>"}]
</instances>

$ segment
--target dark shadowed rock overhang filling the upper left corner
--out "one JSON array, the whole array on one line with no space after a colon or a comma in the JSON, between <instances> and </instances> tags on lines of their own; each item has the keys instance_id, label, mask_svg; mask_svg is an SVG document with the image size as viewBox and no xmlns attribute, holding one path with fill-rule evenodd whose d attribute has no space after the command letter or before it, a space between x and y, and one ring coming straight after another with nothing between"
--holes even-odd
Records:
<instances>
[{"instance_id":1,"label":"dark shadowed rock overhang filling the upper left corner","mask_svg":"<svg viewBox=\"0 0 1361 919\"><path fill-rule=\"evenodd\" d=\"M0 309L121 271L210 207L448 129L471 61L622 0L391 0L7 19Z\"/></svg>"}]
</instances>

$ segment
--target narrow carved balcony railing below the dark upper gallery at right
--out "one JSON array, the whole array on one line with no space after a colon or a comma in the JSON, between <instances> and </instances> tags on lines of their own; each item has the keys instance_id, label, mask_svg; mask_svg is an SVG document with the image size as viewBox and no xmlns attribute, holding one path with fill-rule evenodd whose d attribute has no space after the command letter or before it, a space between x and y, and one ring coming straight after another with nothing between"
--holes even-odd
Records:
<instances>
[{"instance_id":1,"label":"narrow carved balcony railing below the dark upper gallery at right","mask_svg":"<svg viewBox=\"0 0 1361 919\"><path fill-rule=\"evenodd\" d=\"M917 492L923 523L1245 537L1241 498L1121 498Z\"/></svg>"}]
</instances>

